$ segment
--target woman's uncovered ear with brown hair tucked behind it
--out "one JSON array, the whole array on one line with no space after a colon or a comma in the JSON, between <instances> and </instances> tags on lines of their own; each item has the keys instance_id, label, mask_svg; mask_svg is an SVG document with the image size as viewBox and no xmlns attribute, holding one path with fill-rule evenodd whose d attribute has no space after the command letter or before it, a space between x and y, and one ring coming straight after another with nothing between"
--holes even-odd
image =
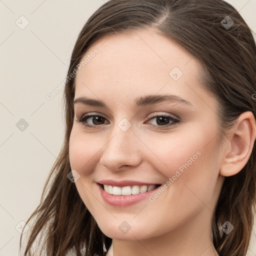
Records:
<instances>
[{"instance_id":1,"label":"woman's uncovered ear with brown hair tucked behind it","mask_svg":"<svg viewBox=\"0 0 256 256\"><path fill-rule=\"evenodd\" d=\"M219 169L219 174L222 176L232 176L238 173L250 157L256 138L253 113L250 111L241 113L231 129Z\"/></svg>"}]
</instances>

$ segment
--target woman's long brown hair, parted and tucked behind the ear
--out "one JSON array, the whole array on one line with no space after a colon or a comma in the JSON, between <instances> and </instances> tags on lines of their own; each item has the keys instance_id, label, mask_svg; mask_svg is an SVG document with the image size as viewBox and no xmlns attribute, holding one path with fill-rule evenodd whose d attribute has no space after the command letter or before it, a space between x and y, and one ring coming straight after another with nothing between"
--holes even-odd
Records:
<instances>
[{"instance_id":1,"label":"woman's long brown hair, parted and tucked behind the ear","mask_svg":"<svg viewBox=\"0 0 256 256\"><path fill-rule=\"evenodd\" d=\"M226 17L228 16L228 17ZM227 22L228 19L228 22ZM223 22L224 20L224 22ZM233 22L233 24L232 24ZM226 24L231 24L228 27ZM174 39L204 66L202 86L218 102L221 136L244 111L256 116L256 47L252 31L237 10L223 0L109 0L99 7L81 29L72 51L64 88L65 138L61 151L45 182L41 200L27 219L31 225L24 255L32 254L35 238L47 255L60 256L73 250L76 255L103 255L104 235L70 182L69 135L74 118L74 77L81 57L102 35L125 30L153 28ZM220 256L246 254L255 212L256 151L236 175L225 177L212 217L213 244ZM228 220L229 234L219 226ZM20 237L20 248L21 248ZM36 252L36 255L39 255Z\"/></svg>"}]
</instances>

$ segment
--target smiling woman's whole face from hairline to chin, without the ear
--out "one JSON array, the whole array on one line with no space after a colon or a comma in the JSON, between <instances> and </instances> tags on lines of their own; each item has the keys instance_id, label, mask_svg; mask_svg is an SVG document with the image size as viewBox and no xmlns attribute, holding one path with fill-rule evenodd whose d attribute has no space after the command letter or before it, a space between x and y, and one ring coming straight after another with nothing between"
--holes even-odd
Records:
<instances>
[{"instance_id":1,"label":"smiling woman's whole face from hairline to chin, without the ear","mask_svg":"<svg viewBox=\"0 0 256 256\"><path fill-rule=\"evenodd\" d=\"M101 106L76 100L69 159L99 228L120 240L210 232L202 223L210 223L223 182L222 151L216 100L201 87L198 60L151 30L103 36L85 57L74 100ZM84 114L95 116L77 122ZM153 188L145 184L161 186L144 192Z\"/></svg>"}]
</instances>

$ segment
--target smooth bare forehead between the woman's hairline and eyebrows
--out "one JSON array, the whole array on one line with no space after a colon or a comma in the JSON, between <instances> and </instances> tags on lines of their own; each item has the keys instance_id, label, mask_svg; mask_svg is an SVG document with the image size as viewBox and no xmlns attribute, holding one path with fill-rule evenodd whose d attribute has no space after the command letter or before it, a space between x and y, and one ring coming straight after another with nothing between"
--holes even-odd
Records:
<instances>
[{"instance_id":1,"label":"smooth bare forehead between the woman's hairline and eyebrows","mask_svg":"<svg viewBox=\"0 0 256 256\"><path fill-rule=\"evenodd\" d=\"M86 57L75 78L75 97L133 102L138 95L172 93L189 97L191 102L198 100L191 87L206 93L199 87L200 62L174 40L154 31L105 35L88 48L81 61Z\"/></svg>"}]
</instances>

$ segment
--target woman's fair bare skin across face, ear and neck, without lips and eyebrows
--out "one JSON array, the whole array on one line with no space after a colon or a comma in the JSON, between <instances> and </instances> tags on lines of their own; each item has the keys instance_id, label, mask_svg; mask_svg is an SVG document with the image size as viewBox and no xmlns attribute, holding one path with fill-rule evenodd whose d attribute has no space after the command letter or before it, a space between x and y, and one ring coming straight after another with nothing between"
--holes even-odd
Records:
<instances>
[{"instance_id":1,"label":"woman's fair bare skin across face, ear and neck, without lips and eyebrows","mask_svg":"<svg viewBox=\"0 0 256 256\"><path fill-rule=\"evenodd\" d=\"M210 237L212 211L224 176L236 174L249 158L256 136L253 114L244 112L219 143L217 101L200 85L200 62L179 44L138 30L103 36L86 54L95 48L99 52L76 75L74 98L100 99L107 108L74 105L69 159L80 175L75 182L80 197L113 239L114 256L218 255ZM176 81L169 75L173 67L183 72ZM192 105L133 105L136 97L149 94L175 94ZM87 118L97 125L87 128L75 121L85 113L103 119L98 124ZM149 120L149 114L180 122L157 129L163 124ZM127 131L117 125L123 118L131 124ZM111 206L95 183L109 178L164 184L197 151L200 156L154 202ZM131 227L127 233L118 228L123 221Z\"/></svg>"}]
</instances>

